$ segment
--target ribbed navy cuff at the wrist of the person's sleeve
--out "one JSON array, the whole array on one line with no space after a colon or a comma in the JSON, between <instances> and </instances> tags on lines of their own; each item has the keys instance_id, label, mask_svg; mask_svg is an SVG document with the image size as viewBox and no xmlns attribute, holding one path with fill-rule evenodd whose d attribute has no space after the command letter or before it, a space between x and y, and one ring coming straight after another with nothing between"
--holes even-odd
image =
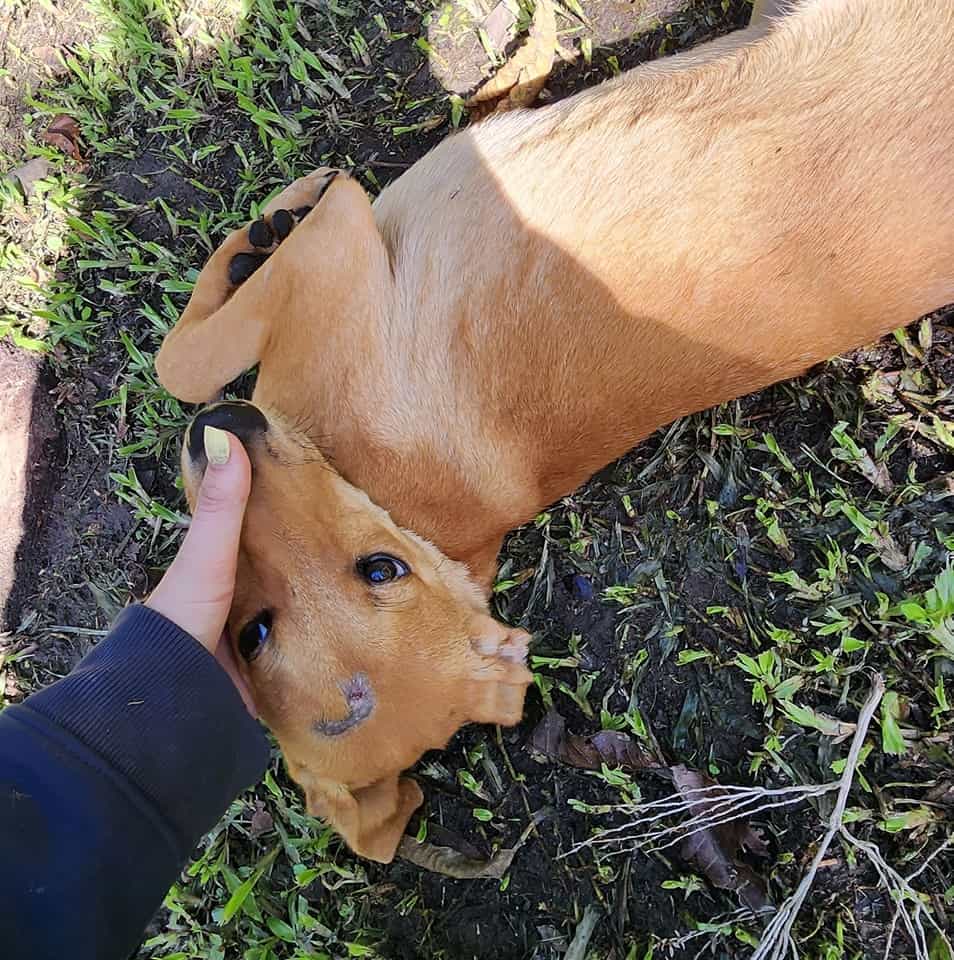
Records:
<instances>
[{"instance_id":1,"label":"ribbed navy cuff at the wrist of the person's sleeve","mask_svg":"<svg viewBox=\"0 0 954 960\"><path fill-rule=\"evenodd\" d=\"M186 850L268 763L262 728L215 658L139 605L119 615L72 673L23 706L131 781Z\"/></svg>"}]
</instances>

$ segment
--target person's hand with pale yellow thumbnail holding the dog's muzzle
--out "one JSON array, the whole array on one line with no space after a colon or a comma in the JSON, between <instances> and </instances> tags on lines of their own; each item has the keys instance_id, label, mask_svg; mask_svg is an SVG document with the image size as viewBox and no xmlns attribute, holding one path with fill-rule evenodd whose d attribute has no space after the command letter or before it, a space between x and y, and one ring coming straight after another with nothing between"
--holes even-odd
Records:
<instances>
[{"instance_id":1,"label":"person's hand with pale yellow thumbnail holding the dog's muzzle","mask_svg":"<svg viewBox=\"0 0 954 960\"><path fill-rule=\"evenodd\" d=\"M252 468L245 448L232 434L206 427L203 439L208 466L192 523L146 606L191 634L218 660L255 716L225 629Z\"/></svg>"}]
</instances>

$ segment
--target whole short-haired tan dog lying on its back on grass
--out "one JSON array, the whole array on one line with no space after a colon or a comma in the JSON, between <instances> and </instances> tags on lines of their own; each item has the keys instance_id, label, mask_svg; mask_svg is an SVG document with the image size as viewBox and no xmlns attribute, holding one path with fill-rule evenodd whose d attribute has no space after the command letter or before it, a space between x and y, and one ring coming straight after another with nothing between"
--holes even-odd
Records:
<instances>
[{"instance_id":1,"label":"whole short-haired tan dog lying on its back on grass","mask_svg":"<svg viewBox=\"0 0 954 960\"><path fill-rule=\"evenodd\" d=\"M316 171L163 345L189 401L261 365L255 406L195 421L186 488L198 428L243 438L233 636L358 853L393 855L421 751L520 716L526 637L484 600L509 529L660 425L954 300L954 6L769 12L470 128L373 207Z\"/></svg>"}]
</instances>

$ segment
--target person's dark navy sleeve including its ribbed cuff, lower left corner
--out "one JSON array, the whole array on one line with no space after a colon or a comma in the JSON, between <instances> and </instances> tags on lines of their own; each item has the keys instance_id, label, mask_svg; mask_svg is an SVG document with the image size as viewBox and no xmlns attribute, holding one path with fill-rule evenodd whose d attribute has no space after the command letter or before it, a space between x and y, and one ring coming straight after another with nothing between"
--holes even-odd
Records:
<instances>
[{"instance_id":1,"label":"person's dark navy sleeve including its ribbed cuff, lower left corner","mask_svg":"<svg viewBox=\"0 0 954 960\"><path fill-rule=\"evenodd\" d=\"M195 639L145 607L0 713L0 953L124 960L201 836L268 762Z\"/></svg>"}]
</instances>

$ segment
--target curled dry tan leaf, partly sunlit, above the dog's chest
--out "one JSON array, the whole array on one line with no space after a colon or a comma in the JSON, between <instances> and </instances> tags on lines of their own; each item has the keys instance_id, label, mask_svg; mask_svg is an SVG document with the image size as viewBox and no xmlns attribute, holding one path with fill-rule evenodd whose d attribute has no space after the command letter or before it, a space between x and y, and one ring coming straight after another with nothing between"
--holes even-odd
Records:
<instances>
[{"instance_id":1,"label":"curled dry tan leaf, partly sunlit, above the dog's chest","mask_svg":"<svg viewBox=\"0 0 954 960\"><path fill-rule=\"evenodd\" d=\"M496 110L530 106L547 82L556 46L556 11L553 2L537 0L527 39L467 101L471 118L476 121Z\"/></svg>"}]
</instances>

